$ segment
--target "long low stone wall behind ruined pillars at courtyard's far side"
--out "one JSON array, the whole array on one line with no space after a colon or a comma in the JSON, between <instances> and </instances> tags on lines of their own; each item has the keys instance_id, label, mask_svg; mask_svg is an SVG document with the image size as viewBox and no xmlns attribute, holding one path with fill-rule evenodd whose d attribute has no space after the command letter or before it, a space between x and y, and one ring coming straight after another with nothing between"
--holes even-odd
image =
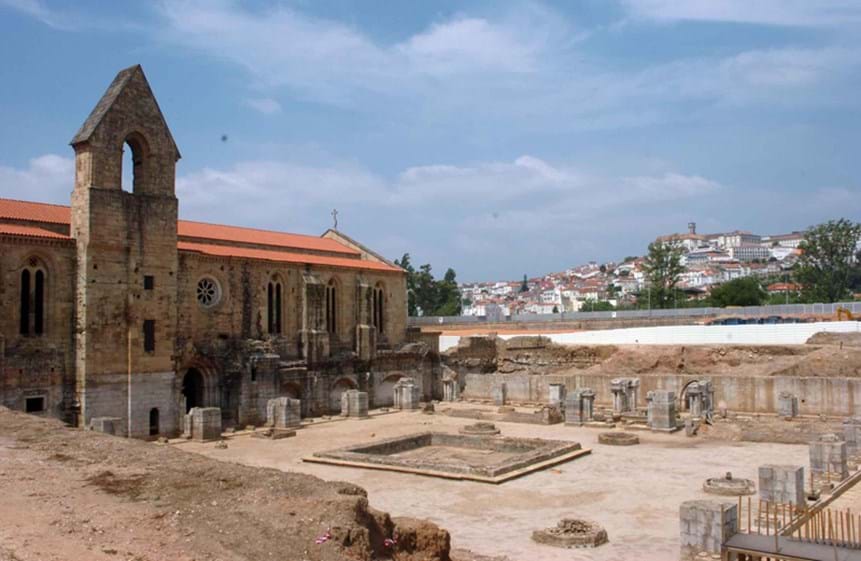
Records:
<instances>
[{"instance_id":1,"label":"long low stone wall behind ruined pillars at courtyard's far side","mask_svg":"<svg viewBox=\"0 0 861 561\"><path fill-rule=\"evenodd\" d=\"M611 375L529 375L467 374L463 397L492 399L493 387L505 383L507 398L512 402L543 403L548 400L550 384L564 383L568 391L588 387L595 391L597 404L612 404ZM725 403L729 410L776 413L781 392L804 396L799 400L801 415L852 416L861 414L861 379L816 378L800 376L708 376L648 374L639 377L640 395L657 389L672 390L680 396L692 380L709 380L714 385L715 402ZM641 399L640 407L646 405Z\"/></svg>"}]
</instances>

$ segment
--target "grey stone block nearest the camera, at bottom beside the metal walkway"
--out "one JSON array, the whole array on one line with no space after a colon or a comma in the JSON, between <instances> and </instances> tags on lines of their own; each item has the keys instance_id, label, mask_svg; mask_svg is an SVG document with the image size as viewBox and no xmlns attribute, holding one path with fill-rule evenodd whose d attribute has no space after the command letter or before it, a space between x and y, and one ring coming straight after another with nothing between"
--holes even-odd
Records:
<instances>
[{"instance_id":1,"label":"grey stone block nearest the camera, at bottom beside the metal walkway","mask_svg":"<svg viewBox=\"0 0 861 561\"><path fill-rule=\"evenodd\" d=\"M736 533L738 506L735 503L696 500L679 508L682 548L720 553L722 545Z\"/></svg>"}]
</instances>

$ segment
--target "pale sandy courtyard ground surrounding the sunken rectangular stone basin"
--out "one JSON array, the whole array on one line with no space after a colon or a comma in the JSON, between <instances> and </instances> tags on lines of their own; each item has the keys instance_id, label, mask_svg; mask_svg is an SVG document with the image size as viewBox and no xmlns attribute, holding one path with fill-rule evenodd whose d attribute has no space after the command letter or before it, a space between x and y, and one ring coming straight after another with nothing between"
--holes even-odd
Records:
<instances>
[{"instance_id":1,"label":"pale sandy courtyard ground surrounding the sunken rectangular stone basin","mask_svg":"<svg viewBox=\"0 0 861 561\"><path fill-rule=\"evenodd\" d=\"M178 447L220 460L356 483L367 489L375 507L393 516L425 518L446 528L455 548L507 556L514 561L677 559L679 505L689 499L714 498L701 491L707 477L731 471L735 477L756 481L761 464L807 464L808 450L803 445L722 442L688 438L683 432L641 432L639 446L612 447L597 443L599 429L515 423L497 426L504 436L574 440L593 452L502 485L301 460L316 451L429 428L455 432L471 422L442 414L399 412L369 420L312 425L294 438L279 441L236 436L229 440L227 449L198 443ZM555 525L563 517L602 524L610 543L594 550L561 550L531 541L533 530Z\"/></svg>"}]
</instances>

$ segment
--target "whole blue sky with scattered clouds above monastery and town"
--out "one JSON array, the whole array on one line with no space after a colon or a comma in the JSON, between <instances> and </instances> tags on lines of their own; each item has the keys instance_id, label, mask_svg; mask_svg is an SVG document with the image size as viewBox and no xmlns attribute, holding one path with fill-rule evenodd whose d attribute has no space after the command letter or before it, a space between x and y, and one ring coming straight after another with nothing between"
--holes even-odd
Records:
<instances>
[{"instance_id":1,"label":"whole blue sky with scattered clouds above monastery and town","mask_svg":"<svg viewBox=\"0 0 861 561\"><path fill-rule=\"evenodd\" d=\"M858 0L0 0L0 196L67 204L68 141L135 63L183 218L337 207L461 280L861 220Z\"/></svg>"}]
</instances>

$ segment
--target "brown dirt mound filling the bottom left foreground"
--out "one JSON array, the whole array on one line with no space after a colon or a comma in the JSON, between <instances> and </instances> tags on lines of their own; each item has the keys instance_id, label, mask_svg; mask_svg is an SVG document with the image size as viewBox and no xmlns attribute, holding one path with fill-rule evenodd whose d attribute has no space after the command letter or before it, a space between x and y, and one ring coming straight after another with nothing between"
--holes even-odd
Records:
<instances>
[{"instance_id":1,"label":"brown dirt mound filling the bottom left foreground","mask_svg":"<svg viewBox=\"0 0 861 561\"><path fill-rule=\"evenodd\" d=\"M0 559L449 558L448 532L392 520L356 485L69 429L5 408L0 493Z\"/></svg>"}]
</instances>

